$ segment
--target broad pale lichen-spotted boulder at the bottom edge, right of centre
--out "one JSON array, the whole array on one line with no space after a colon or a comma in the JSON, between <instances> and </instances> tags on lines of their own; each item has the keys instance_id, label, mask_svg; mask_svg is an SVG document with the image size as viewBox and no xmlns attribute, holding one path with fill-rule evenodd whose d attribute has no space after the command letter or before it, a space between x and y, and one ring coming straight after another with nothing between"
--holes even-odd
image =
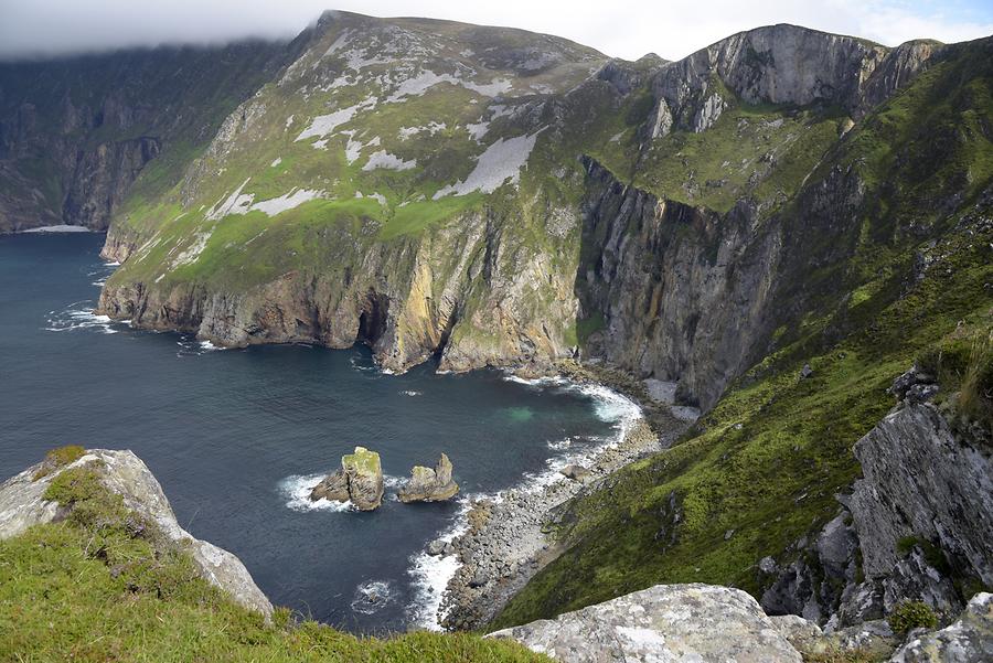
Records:
<instances>
[{"instance_id":1,"label":"broad pale lichen-spotted boulder at the bottom edge, right of centre","mask_svg":"<svg viewBox=\"0 0 993 663\"><path fill-rule=\"evenodd\" d=\"M754 598L700 584L659 585L489 637L513 639L569 663L801 663Z\"/></svg>"}]
</instances>

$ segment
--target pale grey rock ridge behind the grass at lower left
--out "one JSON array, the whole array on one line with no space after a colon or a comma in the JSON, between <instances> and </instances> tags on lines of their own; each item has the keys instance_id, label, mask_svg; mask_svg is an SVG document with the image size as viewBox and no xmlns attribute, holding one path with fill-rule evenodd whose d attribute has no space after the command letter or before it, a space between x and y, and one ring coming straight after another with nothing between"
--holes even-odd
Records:
<instances>
[{"instance_id":1,"label":"pale grey rock ridge behind the grass at lower left","mask_svg":"<svg viewBox=\"0 0 993 663\"><path fill-rule=\"evenodd\" d=\"M33 466L0 485L0 539L17 536L33 525L63 518L64 509L46 501L45 491L66 469L92 467L99 472L103 484L124 499L125 506L158 525L169 541L190 553L202 578L246 608L271 614L273 605L237 557L180 527L162 486L132 452L89 449L75 462L35 480L43 464Z\"/></svg>"}]
</instances>

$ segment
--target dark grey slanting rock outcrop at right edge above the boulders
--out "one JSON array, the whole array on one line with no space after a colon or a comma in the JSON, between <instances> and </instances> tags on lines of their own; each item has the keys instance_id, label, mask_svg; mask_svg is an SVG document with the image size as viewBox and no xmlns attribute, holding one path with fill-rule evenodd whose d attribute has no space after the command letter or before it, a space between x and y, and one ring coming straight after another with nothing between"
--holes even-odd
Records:
<instances>
[{"instance_id":1,"label":"dark grey slanting rock outcrop at right edge above the boulders","mask_svg":"<svg viewBox=\"0 0 993 663\"><path fill-rule=\"evenodd\" d=\"M931 573L921 550L906 558L914 547L937 546L960 571L993 584L989 449L953 435L935 405L917 403L883 419L858 440L855 455L864 478L851 505L863 567L869 579L884 581L887 605L918 598L906 596L915 585L908 578L925 582Z\"/></svg>"}]
</instances>

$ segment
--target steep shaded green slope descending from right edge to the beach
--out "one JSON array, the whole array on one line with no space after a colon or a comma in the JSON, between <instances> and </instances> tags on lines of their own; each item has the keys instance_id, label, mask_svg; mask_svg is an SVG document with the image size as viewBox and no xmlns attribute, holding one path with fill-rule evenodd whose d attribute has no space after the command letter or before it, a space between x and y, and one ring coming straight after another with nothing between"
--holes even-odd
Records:
<instances>
[{"instance_id":1,"label":"steep shaded green slope descending from right edge to the beach","mask_svg":"<svg viewBox=\"0 0 993 663\"><path fill-rule=\"evenodd\" d=\"M989 343L991 46L950 47L768 218L784 246L768 351L676 446L568 507L564 554L495 625L658 582L760 597L772 578L759 559L789 563L794 542L839 513L834 495L859 474L852 447L893 406L894 378L915 359ZM975 374L993 372L989 352L975 361ZM943 388L958 388L965 363L948 362Z\"/></svg>"}]
</instances>

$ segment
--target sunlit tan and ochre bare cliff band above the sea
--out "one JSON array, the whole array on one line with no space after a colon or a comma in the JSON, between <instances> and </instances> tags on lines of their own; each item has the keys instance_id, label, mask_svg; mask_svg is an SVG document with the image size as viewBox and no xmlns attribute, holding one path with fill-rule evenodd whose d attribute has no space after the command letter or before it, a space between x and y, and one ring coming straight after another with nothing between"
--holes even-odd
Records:
<instances>
[{"instance_id":1,"label":"sunlit tan and ochre bare cliff band above the sea","mask_svg":"<svg viewBox=\"0 0 993 663\"><path fill-rule=\"evenodd\" d=\"M109 282L99 310L143 329L194 332L225 346L363 342L384 368L433 355L440 367L549 366L573 356L573 275L557 270L489 214L473 213L419 237L341 236L325 270L291 270L247 290L196 281ZM105 257L140 257L111 229Z\"/></svg>"}]
</instances>

